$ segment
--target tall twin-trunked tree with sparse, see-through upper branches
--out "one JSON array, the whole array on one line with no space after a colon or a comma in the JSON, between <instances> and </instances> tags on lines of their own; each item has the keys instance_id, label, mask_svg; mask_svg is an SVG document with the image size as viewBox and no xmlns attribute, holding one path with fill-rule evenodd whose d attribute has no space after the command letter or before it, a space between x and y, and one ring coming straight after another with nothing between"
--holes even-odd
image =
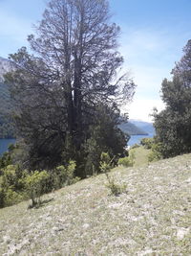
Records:
<instances>
[{"instance_id":1,"label":"tall twin-trunked tree with sparse, see-through upper branches","mask_svg":"<svg viewBox=\"0 0 191 256\"><path fill-rule=\"evenodd\" d=\"M129 100L135 84L117 78L119 28L110 23L106 0L52 0L29 35L26 48L11 55L17 70L7 76L19 132L31 145L32 166L75 157L95 124L97 105ZM70 145L70 146L69 146Z\"/></svg>"}]
</instances>

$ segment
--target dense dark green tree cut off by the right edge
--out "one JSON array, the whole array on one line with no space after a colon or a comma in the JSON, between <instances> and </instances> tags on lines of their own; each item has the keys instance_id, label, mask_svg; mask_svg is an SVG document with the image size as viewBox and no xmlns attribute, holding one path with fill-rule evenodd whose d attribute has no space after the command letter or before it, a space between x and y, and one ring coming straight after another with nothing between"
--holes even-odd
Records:
<instances>
[{"instance_id":1,"label":"dense dark green tree cut off by the right edge","mask_svg":"<svg viewBox=\"0 0 191 256\"><path fill-rule=\"evenodd\" d=\"M191 151L191 40L184 56L172 70L173 80L162 81L162 100L166 107L155 116L157 138L163 157Z\"/></svg>"}]
</instances>

